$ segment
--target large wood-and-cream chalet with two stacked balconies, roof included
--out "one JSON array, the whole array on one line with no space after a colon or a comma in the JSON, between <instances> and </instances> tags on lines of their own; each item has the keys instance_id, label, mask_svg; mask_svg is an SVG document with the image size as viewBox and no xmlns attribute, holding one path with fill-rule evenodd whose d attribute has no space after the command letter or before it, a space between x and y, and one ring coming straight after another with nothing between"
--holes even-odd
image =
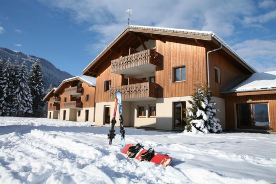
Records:
<instances>
[{"instance_id":1,"label":"large wood-and-cream chalet with two stacked balconies, roof included","mask_svg":"<svg viewBox=\"0 0 276 184\"><path fill-rule=\"evenodd\" d=\"M188 100L197 81L210 81L220 124L232 129L221 89L238 76L254 73L213 32L141 26L123 31L83 70L96 77L96 125L110 122L120 90L125 126L163 130L185 126L184 109L191 106Z\"/></svg>"}]
</instances>

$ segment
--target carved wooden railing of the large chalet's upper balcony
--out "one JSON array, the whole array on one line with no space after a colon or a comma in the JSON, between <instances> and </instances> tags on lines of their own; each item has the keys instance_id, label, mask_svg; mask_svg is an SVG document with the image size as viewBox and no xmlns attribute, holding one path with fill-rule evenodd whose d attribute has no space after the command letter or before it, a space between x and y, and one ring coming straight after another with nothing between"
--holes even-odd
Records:
<instances>
[{"instance_id":1,"label":"carved wooden railing of the large chalet's upper balcony","mask_svg":"<svg viewBox=\"0 0 276 184\"><path fill-rule=\"evenodd\" d=\"M111 60L111 72L125 70L127 68L143 64L158 65L158 53L153 50L145 50L138 53Z\"/></svg>"}]
</instances>

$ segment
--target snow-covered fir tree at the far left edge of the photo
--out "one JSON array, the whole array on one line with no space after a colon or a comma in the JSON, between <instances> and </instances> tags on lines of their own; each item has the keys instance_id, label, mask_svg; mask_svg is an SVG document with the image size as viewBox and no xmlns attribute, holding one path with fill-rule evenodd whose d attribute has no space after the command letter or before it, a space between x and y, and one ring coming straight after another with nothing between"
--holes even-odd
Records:
<instances>
[{"instance_id":1,"label":"snow-covered fir tree at the far left edge of the photo","mask_svg":"<svg viewBox=\"0 0 276 184\"><path fill-rule=\"evenodd\" d=\"M1 116L11 116L13 108L13 95L12 95L12 78L11 78L11 62L10 58L6 62L6 67L3 70L3 75L0 76L0 87L2 88L3 95L1 97L0 114Z\"/></svg>"}]
</instances>

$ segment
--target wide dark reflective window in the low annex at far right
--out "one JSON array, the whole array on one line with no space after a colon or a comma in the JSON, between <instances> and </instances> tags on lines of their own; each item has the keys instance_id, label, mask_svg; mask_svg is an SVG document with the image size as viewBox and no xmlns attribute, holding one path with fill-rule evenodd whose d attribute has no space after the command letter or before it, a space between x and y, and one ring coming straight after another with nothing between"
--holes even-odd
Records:
<instances>
[{"instance_id":1,"label":"wide dark reflective window in the low annex at far right","mask_svg":"<svg viewBox=\"0 0 276 184\"><path fill-rule=\"evenodd\" d=\"M269 129L268 105L237 104L237 128Z\"/></svg>"}]
</instances>

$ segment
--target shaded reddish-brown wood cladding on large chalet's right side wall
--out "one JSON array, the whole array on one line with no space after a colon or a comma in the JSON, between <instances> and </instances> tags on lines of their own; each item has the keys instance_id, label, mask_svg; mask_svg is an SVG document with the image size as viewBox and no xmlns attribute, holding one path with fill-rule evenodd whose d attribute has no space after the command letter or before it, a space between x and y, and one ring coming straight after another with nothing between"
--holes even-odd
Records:
<instances>
[{"instance_id":1,"label":"shaded reddish-brown wood cladding on large chalet's right side wall","mask_svg":"<svg viewBox=\"0 0 276 184\"><path fill-rule=\"evenodd\" d=\"M214 50L206 47L207 52ZM220 69L220 84L215 82L215 66ZM220 54L220 51L215 51L209 54L209 68L210 68L210 89L215 97L221 98L220 90L229 82L240 75L248 75L248 71L242 70L236 66L232 61Z\"/></svg>"}]
</instances>

